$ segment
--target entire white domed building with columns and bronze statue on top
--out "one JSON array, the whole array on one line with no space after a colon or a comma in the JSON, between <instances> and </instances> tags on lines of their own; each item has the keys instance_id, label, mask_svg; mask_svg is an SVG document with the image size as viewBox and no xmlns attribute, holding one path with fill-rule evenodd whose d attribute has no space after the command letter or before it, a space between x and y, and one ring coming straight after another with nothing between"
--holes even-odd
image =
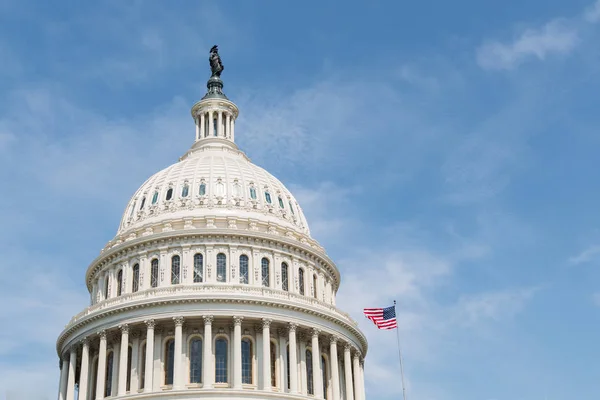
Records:
<instances>
[{"instance_id":1,"label":"entire white domed building with columns and bronze statue on top","mask_svg":"<svg viewBox=\"0 0 600 400\"><path fill-rule=\"evenodd\" d=\"M57 340L59 400L365 400L367 342L292 193L235 144L216 46L195 136L144 182Z\"/></svg>"}]
</instances>

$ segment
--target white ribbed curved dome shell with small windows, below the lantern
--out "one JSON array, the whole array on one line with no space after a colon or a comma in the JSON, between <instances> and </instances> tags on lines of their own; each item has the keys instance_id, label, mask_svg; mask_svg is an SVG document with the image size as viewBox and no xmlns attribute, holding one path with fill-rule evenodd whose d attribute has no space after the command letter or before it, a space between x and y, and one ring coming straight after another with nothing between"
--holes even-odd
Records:
<instances>
[{"instance_id":1,"label":"white ribbed curved dome shell with small windows, below the lantern","mask_svg":"<svg viewBox=\"0 0 600 400\"><path fill-rule=\"evenodd\" d=\"M260 220L310 234L298 202L277 178L236 148L206 146L144 182L127 205L118 235L206 216Z\"/></svg>"}]
</instances>

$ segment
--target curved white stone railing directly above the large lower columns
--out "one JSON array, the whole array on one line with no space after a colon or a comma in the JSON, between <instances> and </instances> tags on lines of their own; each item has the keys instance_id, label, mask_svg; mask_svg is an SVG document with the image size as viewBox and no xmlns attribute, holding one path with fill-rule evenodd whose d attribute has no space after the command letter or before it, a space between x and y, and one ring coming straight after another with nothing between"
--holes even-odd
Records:
<instances>
[{"instance_id":1,"label":"curved white stone railing directly above the large lower columns","mask_svg":"<svg viewBox=\"0 0 600 400\"><path fill-rule=\"evenodd\" d=\"M135 293L126 293L118 297L113 297L107 300L103 300L97 304L87 307L85 310L75 315L69 323L69 325L77 323L82 318L88 315L119 307L126 303L144 301L144 300L160 300L168 297L181 297L185 299L187 297L201 296L206 299L222 299L230 296L241 296L249 299L273 299L273 300L287 300L291 303L296 303L308 308L312 308L315 311L329 314L333 317L341 318L346 320L351 325L357 327L358 323L350 317L349 314L340 311L334 305L326 303L324 301L315 299L310 296L304 296L297 293L287 292L284 290L273 289L261 286L250 286L250 285L232 285L232 284L215 284L215 283L200 283L191 285L174 285L164 286L158 288L152 288L148 290L141 290Z\"/></svg>"}]
</instances>

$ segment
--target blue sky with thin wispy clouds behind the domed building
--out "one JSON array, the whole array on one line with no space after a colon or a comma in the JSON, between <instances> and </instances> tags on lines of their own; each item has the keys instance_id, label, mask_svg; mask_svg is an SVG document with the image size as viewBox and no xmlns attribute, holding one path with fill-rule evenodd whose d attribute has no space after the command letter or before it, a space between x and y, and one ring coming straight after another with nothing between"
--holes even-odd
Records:
<instances>
[{"instance_id":1,"label":"blue sky with thin wispy clouds behind the domed building","mask_svg":"<svg viewBox=\"0 0 600 400\"><path fill-rule=\"evenodd\" d=\"M597 399L600 2L224 3L0 2L0 398L55 398L84 271L191 145L219 44L238 144L342 271L370 399L399 368L361 310L393 299L411 400Z\"/></svg>"}]
</instances>

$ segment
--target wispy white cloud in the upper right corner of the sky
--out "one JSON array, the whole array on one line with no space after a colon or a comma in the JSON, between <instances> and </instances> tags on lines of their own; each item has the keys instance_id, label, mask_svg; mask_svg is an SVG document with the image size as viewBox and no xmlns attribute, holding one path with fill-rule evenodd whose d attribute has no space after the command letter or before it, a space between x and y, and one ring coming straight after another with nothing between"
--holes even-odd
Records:
<instances>
[{"instance_id":1,"label":"wispy white cloud in the upper right corner of the sky","mask_svg":"<svg viewBox=\"0 0 600 400\"><path fill-rule=\"evenodd\" d=\"M530 58L544 60L550 55L569 53L577 41L577 29L557 19L539 29L527 29L509 43L483 44L477 49L477 62L484 69L510 70Z\"/></svg>"}]
</instances>

